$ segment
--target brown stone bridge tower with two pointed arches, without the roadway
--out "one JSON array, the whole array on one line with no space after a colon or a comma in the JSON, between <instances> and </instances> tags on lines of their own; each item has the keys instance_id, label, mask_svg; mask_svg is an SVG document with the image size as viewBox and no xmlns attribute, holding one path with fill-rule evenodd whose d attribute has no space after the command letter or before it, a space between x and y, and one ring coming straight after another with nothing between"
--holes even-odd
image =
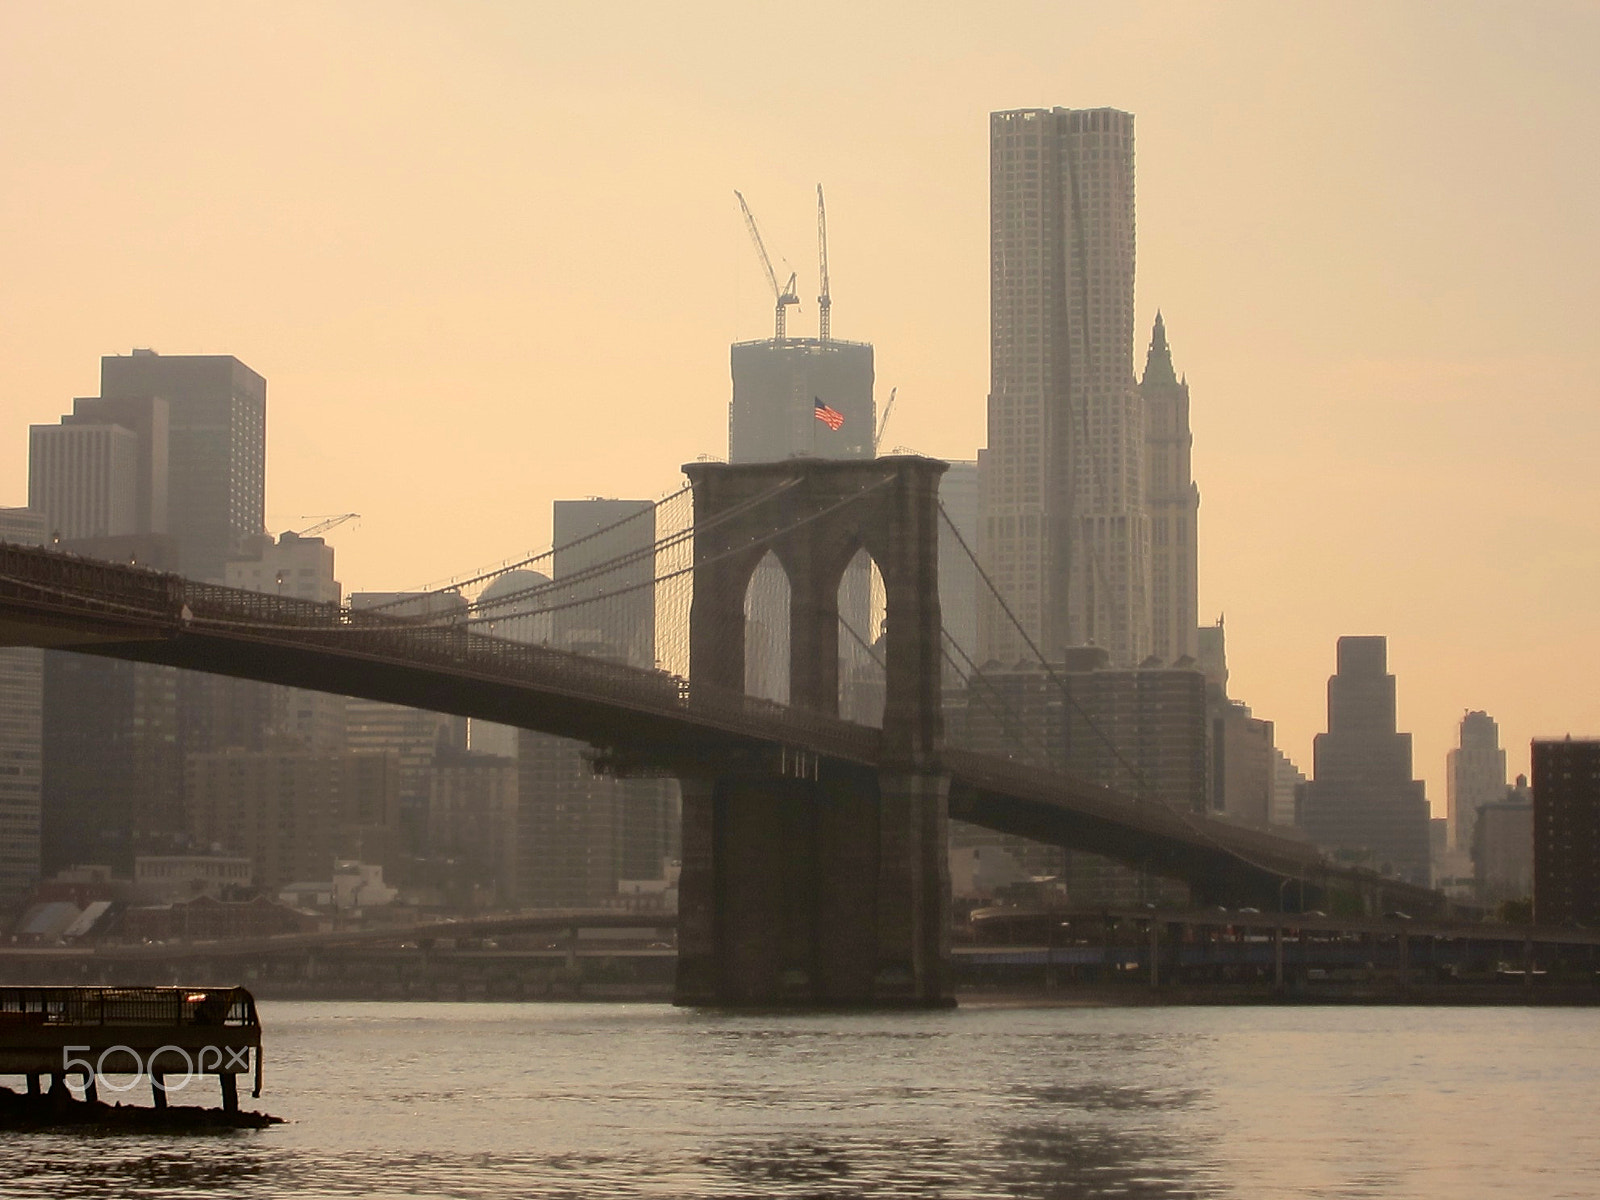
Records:
<instances>
[{"instance_id":1,"label":"brown stone bridge tower with two pointed arches, without the roadway","mask_svg":"<svg viewBox=\"0 0 1600 1200\"><path fill-rule=\"evenodd\" d=\"M693 462L690 688L744 690L744 597L789 576L789 696L838 714L838 584L866 550L885 590L877 768L781 755L683 781L677 1002L944 1005L949 864L939 477L926 458Z\"/></svg>"}]
</instances>

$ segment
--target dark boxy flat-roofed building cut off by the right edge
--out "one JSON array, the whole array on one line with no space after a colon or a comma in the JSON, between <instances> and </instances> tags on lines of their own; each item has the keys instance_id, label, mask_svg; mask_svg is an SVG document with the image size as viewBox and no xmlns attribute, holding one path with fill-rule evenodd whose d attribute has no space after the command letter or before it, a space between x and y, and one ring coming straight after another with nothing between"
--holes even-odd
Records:
<instances>
[{"instance_id":1,"label":"dark boxy flat-roofed building cut off by the right edge","mask_svg":"<svg viewBox=\"0 0 1600 1200\"><path fill-rule=\"evenodd\" d=\"M1533 920L1600 925L1600 739L1533 742Z\"/></svg>"}]
</instances>

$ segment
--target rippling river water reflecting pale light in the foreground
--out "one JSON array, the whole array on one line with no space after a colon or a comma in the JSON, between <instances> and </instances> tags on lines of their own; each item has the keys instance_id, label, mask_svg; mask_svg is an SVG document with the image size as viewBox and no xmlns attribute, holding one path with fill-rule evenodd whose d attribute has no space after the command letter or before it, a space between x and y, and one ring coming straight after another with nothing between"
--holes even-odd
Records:
<instances>
[{"instance_id":1,"label":"rippling river water reflecting pale light in the foreground","mask_svg":"<svg viewBox=\"0 0 1600 1200\"><path fill-rule=\"evenodd\" d=\"M1600 1010L261 1010L286 1125L11 1134L0 1195L1600 1194Z\"/></svg>"}]
</instances>

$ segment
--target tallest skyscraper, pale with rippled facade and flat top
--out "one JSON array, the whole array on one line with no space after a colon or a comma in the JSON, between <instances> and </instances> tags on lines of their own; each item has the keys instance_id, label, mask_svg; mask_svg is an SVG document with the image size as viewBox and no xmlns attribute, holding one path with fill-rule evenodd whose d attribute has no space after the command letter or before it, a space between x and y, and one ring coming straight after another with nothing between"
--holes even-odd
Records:
<instances>
[{"instance_id":1,"label":"tallest skyscraper, pale with rippled facade and flat top","mask_svg":"<svg viewBox=\"0 0 1600 1200\"><path fill-rule=\"evenodd\" d=\"M1144 405L1133 381L1133 115L995 112L981 557L1050 658L1150 646ZM984 658L1024 638L998 605Z\"/></svg>"}]
</instances>

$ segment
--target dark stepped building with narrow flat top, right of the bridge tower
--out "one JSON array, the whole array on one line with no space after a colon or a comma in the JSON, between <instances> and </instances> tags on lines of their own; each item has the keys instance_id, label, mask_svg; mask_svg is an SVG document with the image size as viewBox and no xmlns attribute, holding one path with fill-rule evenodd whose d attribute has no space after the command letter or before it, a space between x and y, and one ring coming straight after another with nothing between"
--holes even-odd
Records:
<instances>
[{"instance_id":1,"label":"dark stepped building with narrow flat top, right of the bridge tower","mask_svg":"<svg viewBox=\"0 0 1600 1200\"><path fill-rule=\"evenodd\" d=\"M1427 886L1427 798L1411 778L1411 734L1395 730L1387 658L1387 638L1339 638L1301 824L1338 859Z\"/></svg>"}]
</instances>

